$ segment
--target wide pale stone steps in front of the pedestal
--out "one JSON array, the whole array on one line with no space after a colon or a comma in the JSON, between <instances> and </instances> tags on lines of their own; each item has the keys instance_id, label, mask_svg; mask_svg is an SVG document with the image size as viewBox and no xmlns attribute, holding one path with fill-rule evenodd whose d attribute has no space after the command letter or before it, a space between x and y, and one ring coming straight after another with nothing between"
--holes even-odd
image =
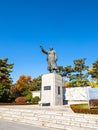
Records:
<instances>
[{"instance_id":1,"label":"wide pale stone steps in front of the pedestal","mask_svg":"<svg viewBox=\"0 0 98 130\"><path fill-rule=\"evenodd\" d=\"M0 118L57 130L98 130L98 115L76 114L69 106L0 106Z\"/></svg>"}]
</instances>

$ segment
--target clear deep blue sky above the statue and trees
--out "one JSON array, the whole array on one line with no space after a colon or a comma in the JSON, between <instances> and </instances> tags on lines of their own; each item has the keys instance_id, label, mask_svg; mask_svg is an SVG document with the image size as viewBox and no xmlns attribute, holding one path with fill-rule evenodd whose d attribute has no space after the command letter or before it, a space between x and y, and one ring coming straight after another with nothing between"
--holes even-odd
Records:
<instances>
[{"instance_id":1,"label":"clear deep blue sky above the statue and trees","mask_svg":"<svg viewBox=\"0 0 98 130\"><path fill-rule=\"evenodd\" d=\"M98 59L98 0L0 0L0 58L14 63L14 82L48 73L40 45L54 48L58 65L87 58L91 66Z\"/></svg>"}]
</instances>

